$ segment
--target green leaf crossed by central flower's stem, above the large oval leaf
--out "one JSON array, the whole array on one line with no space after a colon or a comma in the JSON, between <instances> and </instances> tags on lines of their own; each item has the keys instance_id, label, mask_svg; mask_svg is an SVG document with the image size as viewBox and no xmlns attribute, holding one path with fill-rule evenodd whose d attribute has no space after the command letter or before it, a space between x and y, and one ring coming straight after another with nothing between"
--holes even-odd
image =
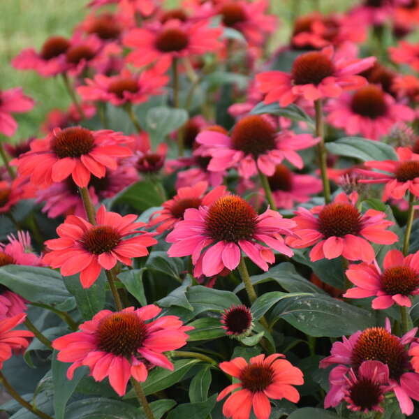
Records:
<instances>
[{"instance_id":1,"label":"green leaf crossed by central flower's stem, above the large oval leaf","mask_svg":"<svg viewBox=\"0 0 419 419\"><path fill-rule=\"evenodd\" d=\"M271 267L267 272L250 277L253 285L263 284L268 281L277 283L289 293L324 293L323 290L311 284L300 274L297 274L292 263L284 262ZM236 286L234 292L237 293L244 289L244 284Z\"/></svg>"}]
</instances>

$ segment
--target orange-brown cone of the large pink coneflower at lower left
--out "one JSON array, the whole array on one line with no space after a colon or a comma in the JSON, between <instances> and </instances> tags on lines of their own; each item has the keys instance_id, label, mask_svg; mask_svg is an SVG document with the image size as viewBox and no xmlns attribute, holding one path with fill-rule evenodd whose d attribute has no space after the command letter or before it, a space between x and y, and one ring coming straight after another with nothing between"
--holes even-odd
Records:
<instances>
[{"instance_id":1,"label":"orange-brown cone of the large pink coneflower at lower left","mask_svg":"<svg viewBox=\"0 0 419 419\"><path fill-rule=\"evenodd\" d=\"M96 336L101 351L129 357L147 337L147 327L133 313L113 313L99 322Z\"/></svg>"}]
</instances>

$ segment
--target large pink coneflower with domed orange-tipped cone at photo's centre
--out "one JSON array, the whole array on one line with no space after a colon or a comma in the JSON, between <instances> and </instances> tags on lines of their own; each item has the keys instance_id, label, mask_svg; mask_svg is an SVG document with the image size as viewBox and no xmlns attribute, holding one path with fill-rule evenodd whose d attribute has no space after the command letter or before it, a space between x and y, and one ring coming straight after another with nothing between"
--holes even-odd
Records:
<instances>
[{"instance_id":1,"label":"large pink coneflower with domed orange-tipped cone at photo's centre","mask_svg":"<svg viewBox=\"0 0 419 419\"><path fill-rule=\"evenodd\" d=\"M258 215L240 196L222 196L210 207L189 208L184 212L184 219L166 237L173 243L168 255L192 255L196 277L201 274L212 277L225 267L234 270L242 251L267 271L267 263L275 260L270 248L293 256L280 234L293 234L294 227L294 221L282 218L278 212L266 210Z\"/></svg>"}]
</instances>

